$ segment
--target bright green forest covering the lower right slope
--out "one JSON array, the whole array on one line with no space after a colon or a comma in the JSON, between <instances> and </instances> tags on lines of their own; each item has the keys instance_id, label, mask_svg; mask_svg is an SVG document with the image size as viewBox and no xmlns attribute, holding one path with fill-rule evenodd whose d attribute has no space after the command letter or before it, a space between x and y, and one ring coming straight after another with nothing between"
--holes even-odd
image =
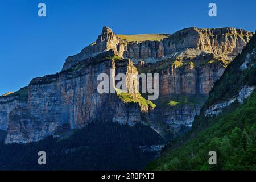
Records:
<instances>
[{"instance_id":1,"label":"bright green forest covering the lower right slope","mask_svg":"<svg viewBox=\"0 0 256 182\"><path fill-rule=\"evenodd\" d=\"M234 103L227 113L180 147L164 151L147 166L156 170L256 170L256 92L244 105ZM209 151L217 165L209 165Z\"/></svg>"}]
</instances>

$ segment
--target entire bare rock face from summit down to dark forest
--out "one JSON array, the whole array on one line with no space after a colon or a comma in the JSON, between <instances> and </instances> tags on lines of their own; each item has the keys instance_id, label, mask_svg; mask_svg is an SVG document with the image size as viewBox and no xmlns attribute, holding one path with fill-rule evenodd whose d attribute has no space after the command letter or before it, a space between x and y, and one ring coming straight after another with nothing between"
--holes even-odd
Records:
<instances>
[{"instance_id":1,"label":"entire bare rock face from summit down to dark forest","mask_svg":"<svg viewBox=\"0 0 256 182\"><path fill-rule=\"evenodd\" d=\"M0 97L0 130L7 133L6 143L42 140L61 128L80 129L96 120L147 122L163 136L170 129L179 134L182 126L191 126L214 82L251 35L234 28L193 27L160 41L128 42L104 27L96 43L68 57L63 71L34 78L27 88ZM123 58L114 59L118 56ZM117 73L138 72L159 73L155 109L97 92L100 73L113 80Z\"/></svg>"}]
</instances>

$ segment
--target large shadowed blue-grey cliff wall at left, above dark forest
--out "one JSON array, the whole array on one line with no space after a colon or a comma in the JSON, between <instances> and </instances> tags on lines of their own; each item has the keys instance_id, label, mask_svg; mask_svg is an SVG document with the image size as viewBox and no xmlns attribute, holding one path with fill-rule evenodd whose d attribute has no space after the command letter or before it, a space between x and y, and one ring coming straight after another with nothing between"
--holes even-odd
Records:
<instances>
[{"instance_id":1,"label":"large shadowed blue-grey cliff wall at left, above dark forest","mask_svg":"<svg viewBox=\"0 0 256 182\"><path fill-rule=\"evenodd\" d=\"M27 88L27 101L1 98L1 129L7 130L6 143L38 141L57 129L79 129L93 121L134 123L141 121L138 104L125 104L116 94L100 94L97 76L130 73L130 60L86 60L72 71L35 78ZM110 77L110 69L114 70Z\"/></svg>"}]
</instances>

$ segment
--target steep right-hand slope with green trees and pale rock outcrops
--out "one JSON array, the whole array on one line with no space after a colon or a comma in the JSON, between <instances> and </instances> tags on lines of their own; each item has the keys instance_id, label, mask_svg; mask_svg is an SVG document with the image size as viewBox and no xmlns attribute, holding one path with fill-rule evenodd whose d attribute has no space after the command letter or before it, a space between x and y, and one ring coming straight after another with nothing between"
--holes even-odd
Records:
<instances>
[{"instance_id":1,"label":"steep right-hand slope with green trees and pale rock outcrops","mask_svg":"<svg viewBox=\"0 0 256 182\"><path fill-rule=\"evenodd\" d=\"M191 131L147 169L255 170L255 64L256 35L215 82ZM209 165L209 151L216 151L216 165Z\"/></svg>"}]
</instances>

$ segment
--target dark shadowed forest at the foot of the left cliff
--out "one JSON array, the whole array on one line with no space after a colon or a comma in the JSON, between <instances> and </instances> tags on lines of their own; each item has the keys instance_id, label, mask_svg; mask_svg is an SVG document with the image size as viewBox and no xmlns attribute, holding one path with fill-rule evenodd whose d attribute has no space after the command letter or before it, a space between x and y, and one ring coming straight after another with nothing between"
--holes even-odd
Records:
<instances>
[{"instance_id":1,"label":"dark shadowed forest at the foot of the left cliff","mask_svg":"<svg viewBox=\"0 0 256 182\"><path fill-rule=\"evenodd\" d=\"M93 122L71 137L47 137L29 144L0 144L0 170L138 170L155 159L156 152L139 146L164 144L149 126ZM38 152L46 152L46 165Z\"/></svg>"}]
</instances>

